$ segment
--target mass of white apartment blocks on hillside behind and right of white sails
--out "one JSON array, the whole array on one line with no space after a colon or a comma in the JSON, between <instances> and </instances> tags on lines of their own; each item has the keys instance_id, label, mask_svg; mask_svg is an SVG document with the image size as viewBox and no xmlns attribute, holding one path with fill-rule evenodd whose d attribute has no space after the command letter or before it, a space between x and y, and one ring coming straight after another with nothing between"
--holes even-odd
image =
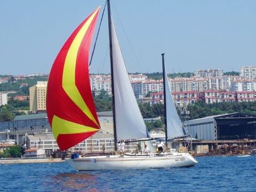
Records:
<instances>
[{"instance_id":1,"label":"mass of white apartment blocks on hillside behind and right of white sails","mask_svg":"<svg viewBox=\"0 0 256 192\"><path fill-rule=\"evenodd\" d=\"M169 85L175 103L180 106L198 101L205 103L254 101L254 94L247 96L246 91L255 91L256 80L252 77L255 67L242 67L240 71L250 75L224 75L223 70L197 70L190 78L169 78ZM246 78L250 77L249 78ZM150 80L142 74L129 75L135 97L142 103L163 103L163 81ZM111 91L110 75L91 75L91 88L96 91ZM239 92L239 94L237 94ZM246 92L246 93L247 93ZM240 96L240 93L242 94ZM237 96L239 95L239 97Z\"/></svg>"}]
</instances>

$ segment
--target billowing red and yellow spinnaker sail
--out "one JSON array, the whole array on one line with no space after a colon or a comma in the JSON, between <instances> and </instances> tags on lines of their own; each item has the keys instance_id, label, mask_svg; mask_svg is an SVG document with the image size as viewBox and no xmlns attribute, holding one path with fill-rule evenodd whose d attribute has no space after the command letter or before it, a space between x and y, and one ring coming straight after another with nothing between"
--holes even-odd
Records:
<instances>
[{"instance_id":1,"label":"billowing red and yellow spinnaker sail","mask_svg":"<svg viewBox=\"0 0 256 192\"><path fill-rule=\"evenodd\" d=\"M89 83L89 49L99 8L66 40L47 85L47 115L60 150L95 134L99 121Z\"/></svg>"}]
</instances>

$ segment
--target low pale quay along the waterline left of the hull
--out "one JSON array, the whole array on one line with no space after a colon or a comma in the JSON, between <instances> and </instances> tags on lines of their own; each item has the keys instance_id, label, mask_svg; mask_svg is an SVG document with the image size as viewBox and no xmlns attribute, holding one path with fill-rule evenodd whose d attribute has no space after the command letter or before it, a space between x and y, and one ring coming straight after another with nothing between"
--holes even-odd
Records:
<instances>
[{"instance_id":1,"label":"low pale quay along the waterline left of the hull","mask_svg":"<svg viewBox=\"0 0 256 192\"><path fill-rule=\"evenodd\" d=\"M0 158L0 165L23 164L23 163L60 163L65 162L62 158Z\"/></svg>"}]
</instances>

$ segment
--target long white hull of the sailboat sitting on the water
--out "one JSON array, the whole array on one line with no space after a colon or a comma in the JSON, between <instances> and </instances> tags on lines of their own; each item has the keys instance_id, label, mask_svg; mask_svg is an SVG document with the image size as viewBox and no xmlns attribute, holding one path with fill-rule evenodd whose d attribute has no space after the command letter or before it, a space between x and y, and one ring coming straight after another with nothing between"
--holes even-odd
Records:
<instances>
[{"instance_id":1,"label":"long white hull of the sailboat sitting on the water","mask_svg":"<svg viewBox=\"0 0 256 192\"><path fill-rule=\"evenodd\" d=\"M66 159L75 170L123 170L168 167L191 167L198 163L189 153L176 153L163 156L119 155Z\"/></svg>"}]
</instances>

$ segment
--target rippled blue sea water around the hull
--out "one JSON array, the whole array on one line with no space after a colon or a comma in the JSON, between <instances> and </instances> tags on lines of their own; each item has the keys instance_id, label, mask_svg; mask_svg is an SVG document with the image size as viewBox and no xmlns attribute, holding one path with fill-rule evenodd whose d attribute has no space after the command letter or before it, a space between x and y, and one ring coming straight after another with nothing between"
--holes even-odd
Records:
<instances>
[{"instance_id":1,"label":"rippled blue sea water around the hull","mask_svg":"<svg viewBox=\"0 0 256 192\"><path fill-rule=\"evenodd\" d=\"M198 157L190 168L75 171L67 163L0 165L0 191L256 191L256 156Z\"/></svg>"}]
</instances>

